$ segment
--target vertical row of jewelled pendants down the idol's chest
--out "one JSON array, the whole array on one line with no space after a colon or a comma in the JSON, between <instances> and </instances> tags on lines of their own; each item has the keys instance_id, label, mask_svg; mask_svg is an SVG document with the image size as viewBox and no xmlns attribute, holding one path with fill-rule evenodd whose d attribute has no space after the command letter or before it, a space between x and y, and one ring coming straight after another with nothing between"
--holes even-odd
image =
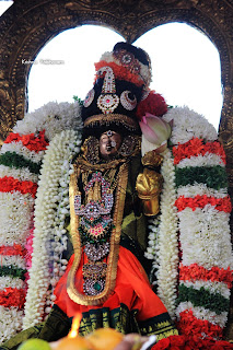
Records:
<instances>
[{"instance_id":1,"label":"vertical row of jewelled pendants down the idol's chest","mask_svg":"<svg viewBox=\"0 0 233 350\"><path fill-rule=\"evenodd\" d=\"M114 199L110 184L101 172L92 174L84 187L85 199L82 205L81 192L74 196L74 212L80 217L79 232L86 232L91 242L85 242L84 254L89 262L82 267L83 292L97 295L105 287L106 262L103 259L109 253L109 242L100 243L100 237L109 229L113 219L110 211Z\"/></svg>"}]
</instances>

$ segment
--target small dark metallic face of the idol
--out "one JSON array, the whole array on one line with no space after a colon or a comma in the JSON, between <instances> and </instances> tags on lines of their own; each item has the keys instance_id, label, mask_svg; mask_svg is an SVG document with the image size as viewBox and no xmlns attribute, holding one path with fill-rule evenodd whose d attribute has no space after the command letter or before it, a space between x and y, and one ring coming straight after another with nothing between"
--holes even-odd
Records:
<instances>
[{"instance_id":1,"label":"small dark metallic face of the idol","mask_svg":"<svg viewBox=\"0 0 233 350\"><path fill-rule=\"evenodd\" d=\"M121 136L115 131L106 131L100 138L100 153L104 160L110 160L117 155L121 144Z\"/></svg>"}]
</instances>

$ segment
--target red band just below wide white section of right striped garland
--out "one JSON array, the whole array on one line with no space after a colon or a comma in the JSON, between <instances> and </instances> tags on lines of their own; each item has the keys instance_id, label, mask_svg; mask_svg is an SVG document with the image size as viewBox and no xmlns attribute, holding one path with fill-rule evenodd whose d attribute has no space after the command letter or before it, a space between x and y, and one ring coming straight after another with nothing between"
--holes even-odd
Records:
<instances>
[{"instance_id":1,"label":"red band just below wide white section of right striped garland","mask_svg":"<svg viewBox=\"0 0 233 350\"><path fill-rule=\"evenodd\" d=\"M212 281L212 282L224 282L228 288L232 288L233 282L233 271L230 267L225 270L217 266L211 267L210 270L197 264L191 264L189 266L179 266L179 280L182 281Z\"/></svg>"}]
</instances>

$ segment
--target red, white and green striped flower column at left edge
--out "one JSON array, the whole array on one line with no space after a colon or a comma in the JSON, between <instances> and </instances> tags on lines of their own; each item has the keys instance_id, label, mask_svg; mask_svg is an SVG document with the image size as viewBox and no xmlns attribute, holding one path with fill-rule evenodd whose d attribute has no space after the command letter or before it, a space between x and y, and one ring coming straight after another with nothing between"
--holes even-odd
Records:
<instances>
[{"instance_id":1,"label":"red, white and green striped flower column at left edge","mask_svg":"<svg viewBox=\"0 0 233 350\"><path fill-rule=\"evenodd\" d=\"M0 340L22 327L26 295L26 240L33 228L34 200L45 132L11 132L0 153Z\"/></svg>"}]
</instances>

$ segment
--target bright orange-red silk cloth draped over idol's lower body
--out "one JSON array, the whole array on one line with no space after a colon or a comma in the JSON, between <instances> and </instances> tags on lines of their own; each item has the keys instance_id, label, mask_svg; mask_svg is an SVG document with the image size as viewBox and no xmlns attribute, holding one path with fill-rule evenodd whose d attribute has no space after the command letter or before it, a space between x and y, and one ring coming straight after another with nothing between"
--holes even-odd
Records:
<instances>
[{"instance_id":1,"label":"bright orange-red silk cloth draped over idol's lower body","mask_svg":"<svg viewBox=\"0 0 233 350\"><path fill-rule=\"evenodd\" d=\"M101 305L80 305L74 303L67 293L67 277L72 266L74 256L69 260L67 270L61 279L58 281L55 295L57 296L55 304L57 304L68 317L73 317L78 312L84 313L90 310L109 307L114 310L124 303L129 311L138 310L137 319L144 320L160 314L166 313L159 296L152 291L147 273L135 255L120 246L119 259L117 266L117 278L114 292L109 295L107 301ZM81 261L84 261L81 259ZM82 264L80 264L77 271L75 288L83 291Z\"/></svg>"}]
</instances>

